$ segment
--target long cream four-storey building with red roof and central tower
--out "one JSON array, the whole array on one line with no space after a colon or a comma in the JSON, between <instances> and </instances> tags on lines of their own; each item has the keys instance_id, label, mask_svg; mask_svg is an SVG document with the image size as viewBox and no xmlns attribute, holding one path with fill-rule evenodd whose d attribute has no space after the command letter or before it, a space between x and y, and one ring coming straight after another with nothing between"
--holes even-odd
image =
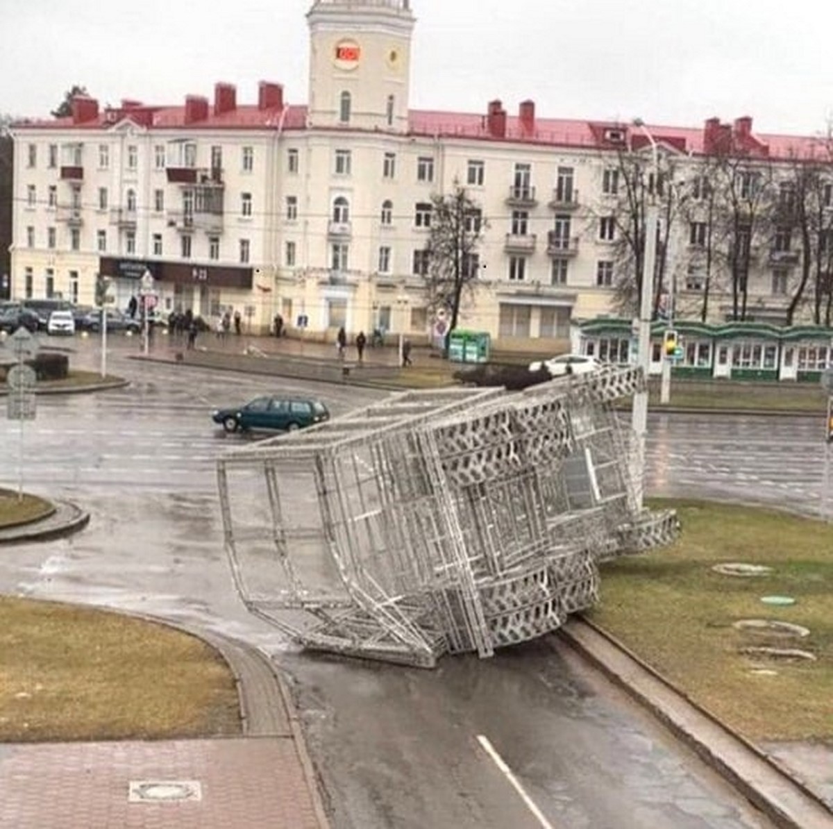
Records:
<instances>
[{"instance_id":1,"label":"long cream four-storey building with red roof and central tower","mask_svg":"<svg viewBox=\"0 0 833 829\"><path fill-rule=\"evenodd\" d=\"M89 304L101 274L124 307L149 270L163 311L233 307L259 332L281 314L307 336L343 326L430 337L431 197L459 183L487 220L461 325L501 349L563 348L572 322L621 313L639 271L633 170L639 198L667 192L680 208L661 240L658 310L671 295L678 313L736 317L739 285L746 318L829 308L816 296L829 278L816 274L816 294L790 312L800 257L776 225L755 235L780 251L750 240L732 258L736 240L717 239L697 183L726 140L747 166L786 175L813 155L811 139L757 137L747 118L704 129L541 119L531 101L513 115L500 101L481 114L416 111L409 0L317 0L307 17L306 106L277 83L247 105L217 83L212 100L102 109L77 98L72 117L17 123L12 296ZM673 171L665 191L652 164ZM712 242L708 267L724 276L710 282Z\"/></svg>"}]
</instances>

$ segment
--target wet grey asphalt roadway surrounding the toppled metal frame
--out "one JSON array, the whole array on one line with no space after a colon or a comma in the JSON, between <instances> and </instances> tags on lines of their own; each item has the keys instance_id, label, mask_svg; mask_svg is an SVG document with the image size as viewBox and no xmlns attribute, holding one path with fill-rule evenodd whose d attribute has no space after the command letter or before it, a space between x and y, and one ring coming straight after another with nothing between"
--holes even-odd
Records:
<instances>
[{"instance_id":1,"label":"wet grey asphalt roadway surrounding the toppled metal frame","mask_svg":"<svg viewBox=\"0 0 833 829\"><path fill-rule=\"evenodd\" d=\"M87 343L87 346L89 344ZM88 348L75 359L94 364ZM0 590L149 612L240 637L294 679L337 829L764 827L700 762L555 639L435 672L292 653L247 615L222 553L214 460L239 437L212 406L304 384L144 365L132 386L40 398L25 485L92 512L75 537L6 548ZM307 384L336 414L379 392ZM0 421L0 480L17 482L17 424ZM801 418L651 419L649 492L813 507L821 425ZM816 500L817 506L817 500ZM524 792L511 786L486 737Z\"/></svg>"}]
</instances>

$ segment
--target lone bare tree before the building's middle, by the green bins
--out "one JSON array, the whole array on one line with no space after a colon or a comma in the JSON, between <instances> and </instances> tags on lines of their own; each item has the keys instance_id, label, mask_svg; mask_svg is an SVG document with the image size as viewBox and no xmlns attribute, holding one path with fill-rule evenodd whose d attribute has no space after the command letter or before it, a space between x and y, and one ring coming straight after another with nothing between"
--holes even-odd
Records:
<instances>
[{"instance_id":1,"label":"lone bare tree before the building's middle, by the green bins","mask_svg":"<svg viewBox=\"0 0 833 829\"><path fill-rule=\"evenodd\" d=\"M445 309L451 316L446 332L446 354L451 332L460 318L463 292L472 287L480 273L477 249L488 222L480 207L455 181L451 193L431 197L431 233L425 267L428 306Z\"/></svg>"}]
</instances>

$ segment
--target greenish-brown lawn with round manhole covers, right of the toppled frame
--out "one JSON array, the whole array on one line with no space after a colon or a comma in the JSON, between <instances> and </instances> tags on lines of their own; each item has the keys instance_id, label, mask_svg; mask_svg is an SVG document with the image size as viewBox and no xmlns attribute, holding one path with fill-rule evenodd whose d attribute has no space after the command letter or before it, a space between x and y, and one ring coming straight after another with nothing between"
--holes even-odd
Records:
<instances>
[{"instance_id":1,"label":"greenish-brown lawn with round manhole covers, right of the toppled frame","mask_svg":"<svg viewBox=\"0 0 833 829\"><path fill-rule=\"evenodd\" d=\"M833 525L711 502L652 505L676 507L680 540L602 567L601 604L588 617L751 740L833 739ZM721 562L772 572L724 576L711 569ZM761 602L771 595L796 604ZM733 627L744 619L811 633L786 639ZM817 661L773 662L741 653L748 646L800 648Z\"/></svg>"}]
</instances>

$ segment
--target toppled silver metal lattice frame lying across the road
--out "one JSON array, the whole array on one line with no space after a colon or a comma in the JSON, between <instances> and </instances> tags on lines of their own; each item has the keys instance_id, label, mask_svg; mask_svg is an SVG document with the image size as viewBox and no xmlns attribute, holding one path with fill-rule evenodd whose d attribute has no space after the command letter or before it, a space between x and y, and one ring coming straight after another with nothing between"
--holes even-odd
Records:
<instances>
[{"instance_id":1,"label":"toppled silver metal lattice frame lying across the road","mask_svg":"<svg viewBox=\"0 0 833 829\"><path fill-rule=\"evenodd\" d=\"M433 667L551 632L599 562L671 542L613 404L639 369L396 394L218 462L247 608L303 646Z\"/></svg>"}]
</instances>

